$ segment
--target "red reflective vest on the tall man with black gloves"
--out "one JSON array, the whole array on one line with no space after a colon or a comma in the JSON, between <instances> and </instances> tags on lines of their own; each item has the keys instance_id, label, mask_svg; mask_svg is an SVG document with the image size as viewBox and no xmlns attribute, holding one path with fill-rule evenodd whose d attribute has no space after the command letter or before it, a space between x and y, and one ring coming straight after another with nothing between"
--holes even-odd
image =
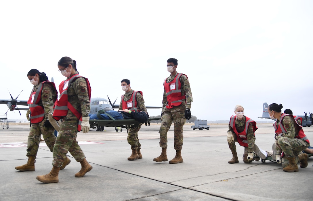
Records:
<instances>
[{"instance_id":1,"label":"red reflective vest on the tall man with black gloves","mask_svg":"<svg viewBox=\"0 0 313 201\"><path fill-rule=\"evenodd\" d=\"M166 98L167 98L167 105L166 108L170 109L173 108L173 106L179 106L182 104L182 100L185 99L186 102L186 96L182 96L182 83L180 82L179 78L185 74L182 73L177 73L175 78L167 83L166 79L164 80L163 86L165 89L166 93ZM187 77L187 75L185 75ZM187 77L188 78L188 77Z\"/></svg>"}]
</instances>

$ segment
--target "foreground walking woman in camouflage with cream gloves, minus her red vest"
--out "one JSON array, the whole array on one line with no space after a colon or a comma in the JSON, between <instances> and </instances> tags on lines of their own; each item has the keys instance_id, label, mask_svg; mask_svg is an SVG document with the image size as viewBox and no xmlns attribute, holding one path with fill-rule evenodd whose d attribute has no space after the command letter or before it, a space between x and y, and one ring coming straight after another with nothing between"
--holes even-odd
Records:
<instances>
[{"instance_id":1,"label":"foreground walking woman in camouflage with cream gloves, minus her red vest","mask_svg":"<svg viewBox=\"0 0 313 201\"><path fill-rule=\"evenodd\" d=\"M76 61L69 57L61 58L58 63L58 68L62 75L67 77L68 80L78 74L76 70ZM87 83L86 80L87 79L83 77L76 78L71 84L69 84L66 90L68 103L70 103L74 110L76 110L82 116L81 128L83 133L87 133L90 129L88 113L90 112L89 96L91 93L91 88L89 82ZM62 96L60 96L60 100ZM55 108L54 114L57 111L57 106ZM66 153L68 153L68 151L72 154L75 160L81 164L81 170L75 174L75 177L83 177L92 169L92 166L86 161L85 154L76 140L79 121L80 119L77 118L69 108L67 110L66 116L63 116L63 118L60 120L59 133L53 148L52 170L46 175L37 176L36 179L44 183L59 182L58 175L60 168L62 165L70 162L66 157Z\"/></svg>"}]
</instances>

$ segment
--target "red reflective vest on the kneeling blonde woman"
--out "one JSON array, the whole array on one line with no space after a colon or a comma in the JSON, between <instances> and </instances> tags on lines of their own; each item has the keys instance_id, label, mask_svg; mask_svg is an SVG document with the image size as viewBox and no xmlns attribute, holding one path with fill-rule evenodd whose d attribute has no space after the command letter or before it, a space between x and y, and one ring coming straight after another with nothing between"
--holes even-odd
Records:
<instances>
[{"instance_id":1,"label":"red reflective vest on the kneeling blonde woman","mask_svg":"<svg viewBox=\"0 0 313 201\"><path fill-rule=\"evenodd\" d=\"M245 116L246 117L246 124L245 124L246 126L244 127L244 130L239 133L236 129L236 126L235 126L236 117L237 117L236 115L231 116L231 118L229 120L229 126L231 128L233 128L233 131L236 133L238 143L243 147L248 147L247 132L248 132L249 124L252 123L253 134L258 129L258 127L256 127L256 122L254 120ZM254 136L255 136L255 134L254 134Z\"/></svg>"}]
</instances>

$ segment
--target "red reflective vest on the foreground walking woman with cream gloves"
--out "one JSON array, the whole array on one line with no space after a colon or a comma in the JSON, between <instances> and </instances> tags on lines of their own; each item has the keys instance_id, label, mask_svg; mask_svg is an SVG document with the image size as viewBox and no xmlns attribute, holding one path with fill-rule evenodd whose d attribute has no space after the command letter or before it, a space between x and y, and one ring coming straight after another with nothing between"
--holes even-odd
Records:
<instances>
[{"instance_id":1,"label":"red reflective vest on the foreground walking woman with cream gloves","mask_svg":"<svg viewBox=\"0 0 313 201\"><path fill-rule=\"evenodd\" d=\"M79 119L77 130L81 130L81 123L82 123L82 115L79 113L71 103L68 102L67 100L67 89L71 85L71 83L74 82L77 78L84 78L83 76L80 76L79 74L74 74L72 77L70 77L67 80L64 80L60 83L59 85L59 91L60 91L60 98L55 102L55 108L53 112L53 118L57 121L59 121L62 117L65 117L67 115L68 110L70 110L75 117ZM87 90L88 90L88 96L89 96L89 101L90 101L90 95L91 95L91 87L90 83L87 78L84 78L87 83Z\"/></svg>"}]
</instances>

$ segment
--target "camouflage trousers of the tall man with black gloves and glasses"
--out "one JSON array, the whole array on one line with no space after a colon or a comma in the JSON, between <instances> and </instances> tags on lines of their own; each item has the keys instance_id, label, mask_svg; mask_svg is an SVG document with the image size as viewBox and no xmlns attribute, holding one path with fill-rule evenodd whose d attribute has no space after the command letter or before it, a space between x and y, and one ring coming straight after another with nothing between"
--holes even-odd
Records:
<instances>
[{"instance_id":1,"label":"camouflage trousers of the tall man with black gloves and glasses","mask_svg":"<svg viewBox=\"0 0 313 201\"><path fill-rule=\"evenodd\" d=\"M167 147L167 131L170 129L172 122L174 122L174 149L177 151L182 150L183 143L183 125L186 122L185 110L171 112L167 108L164 109L161 117L160 133L160 147Z\"/></svg>"}]
</instances>

